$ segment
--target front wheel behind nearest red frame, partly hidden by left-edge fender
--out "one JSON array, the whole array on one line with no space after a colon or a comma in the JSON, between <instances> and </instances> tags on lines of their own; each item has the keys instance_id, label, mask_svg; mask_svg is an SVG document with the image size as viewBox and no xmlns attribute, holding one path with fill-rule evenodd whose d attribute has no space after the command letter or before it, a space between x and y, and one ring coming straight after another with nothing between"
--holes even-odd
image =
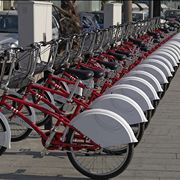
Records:
<instances>
[{"instance_id":1,"label":"front wheel behind nearest red frame, partly hidden by left-edge fender","mask_svg":"<svg viewBox=\"0 0 180 180\"><path fill-rule=\"evenodd\" d=\"M8 95L8 96L16 97L15 95ZM17 102L10 99L8 99L7 101L9 104L16 107ZM23 108L21 108L19 111L25 114L26 116L32 115L31 109L27 105L23 105ZM31 128L27 127L23 123L18 122L18 121L24 122L24 120L21 119L21 117L19 117L18 115L15 115L12 110L2 107L2 113L8 120L10 129L11 129L11 142L21 141L27 138L29 134L32 132ZM16 121L15 118L19 118L19 119L16 119L17 120Z\"/></svg>"}]
</instances>

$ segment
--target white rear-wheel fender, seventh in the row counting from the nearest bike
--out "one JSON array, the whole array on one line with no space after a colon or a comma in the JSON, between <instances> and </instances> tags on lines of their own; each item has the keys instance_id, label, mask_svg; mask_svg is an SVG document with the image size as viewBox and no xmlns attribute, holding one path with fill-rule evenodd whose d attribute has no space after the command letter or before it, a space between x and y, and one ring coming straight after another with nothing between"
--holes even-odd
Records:
<instances>
[{"instance_id":1,"label":"white rear-wheel fender, seventh in the row counting from the nearest bike","mask_svg":"<svg viewBox=\"0 0 180 180\"><path fill-rule=\"evenodd\" d=\"M171 71L169 70L169 68L166 66L166 64L164 64L161 61L158 61L156 59L145 59L144 61L142 61L142 64L152 64L156 67L158 67L159 69L161 69L161 71L165 74L166 77L172 77L173 75L171 74Z\"/></svg>"}]
</instances>

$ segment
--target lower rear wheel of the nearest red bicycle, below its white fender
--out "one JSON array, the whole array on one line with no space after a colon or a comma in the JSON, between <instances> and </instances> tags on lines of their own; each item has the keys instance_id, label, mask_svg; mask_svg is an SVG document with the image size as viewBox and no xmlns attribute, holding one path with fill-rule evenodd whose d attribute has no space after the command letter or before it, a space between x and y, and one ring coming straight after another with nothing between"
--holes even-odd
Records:
<instances>
[{"instance_id":1,"label":"lower rear wheel of the nearest red bicycle, below its white fender","mask_svg":"<svg viewBox=\"0 0 180 180\"><path fill-rule=\"evenodd\" d=\"M82 143L75 138L75 133L70 131L67 136L67 142L70 144ZM122 153L114 153L120 147L110 147L101 151L92 151L88 149L74 150L72 147L67 152L68 158L74 168L83 175L92 179L109 179L118 176L129 165L132 156L134 145L121 145Z\"/></svg>"}]
</instances>

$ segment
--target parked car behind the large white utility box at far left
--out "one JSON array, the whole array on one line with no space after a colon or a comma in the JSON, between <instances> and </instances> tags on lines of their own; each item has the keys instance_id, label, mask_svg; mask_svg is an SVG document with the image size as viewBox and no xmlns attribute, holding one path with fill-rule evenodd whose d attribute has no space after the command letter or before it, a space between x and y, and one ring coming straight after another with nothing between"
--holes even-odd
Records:
<instances>
[{"instance_id":1,"label":"parked car behind the large white utility box at far left","mask_svg":"<svg viewBox=\"0 0 180 180\"><path fill-rule=\"evenodd\" d=\"M52 37L59 38L59 25L54 16L52 16ZM18 12L0 11L0 49L6 49L12 43L18 45Z\"/></svg>"}]
</instances>

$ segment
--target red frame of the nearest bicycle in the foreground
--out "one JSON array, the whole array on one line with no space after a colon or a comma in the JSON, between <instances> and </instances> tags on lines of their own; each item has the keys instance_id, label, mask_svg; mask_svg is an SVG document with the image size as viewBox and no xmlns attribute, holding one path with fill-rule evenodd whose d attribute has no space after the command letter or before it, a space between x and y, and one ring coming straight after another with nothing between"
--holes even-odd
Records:
<instances>
[{"instance_id":1,"label":"red frame of the nearest bicycle in the foreground","mask_svg":"<svg viewBox=\"0 0 180 180\"><path fill-rule=\"evenodd\" d=\"M18 106L14 107L12 104L9 104L7 100L12 100L13 102L18 103ZM41 100L43 100L43 102L47 102L47 104L50 105L50 102L48 102L45 98L41 97ZM68 129L72 129L73 131L76 132L75 138L79 139L81 142L81 143L73 143L73 144L67 143L65 142L65 138L63 138L67 134L64 134L63 132L56 132L53 140L51 141L51 144L50 144L51 146L48 149L50 150L60 149L60 148L69 149L70 147L73 147L74 149L79 150L79 149L84 149L84 148L96 149L99 147L92 140L90 140L89 142L86 142L85 136L81 132L79 132L76 128L74 128L73 126L69 124L70 120L67 117L57 112L50 111L47 108L40 106L39 104L26 101L23 98L20 99L20 98L12 97L10 95L6 95L6 94L3 94L1 97L1 101L0 101L1 108L5 107L8 110L11 110L13 112L13 115L11 117L19 116L22 120L24 120L30 127L32 127L32 129L34 129L41 136L42 141L46 142L48 140L48 136L50 135L50 131L43 132L34 122L32 122L22 112L20 112L18 110L18 107L20 106L22 107L23 105L33 107L35 109L42 111L45 114L48 114L54 117L57 120L54 126L55 128L61 125L61 126L64 126L65 128L67 127Z\"/></svg>"}]
</instances>

